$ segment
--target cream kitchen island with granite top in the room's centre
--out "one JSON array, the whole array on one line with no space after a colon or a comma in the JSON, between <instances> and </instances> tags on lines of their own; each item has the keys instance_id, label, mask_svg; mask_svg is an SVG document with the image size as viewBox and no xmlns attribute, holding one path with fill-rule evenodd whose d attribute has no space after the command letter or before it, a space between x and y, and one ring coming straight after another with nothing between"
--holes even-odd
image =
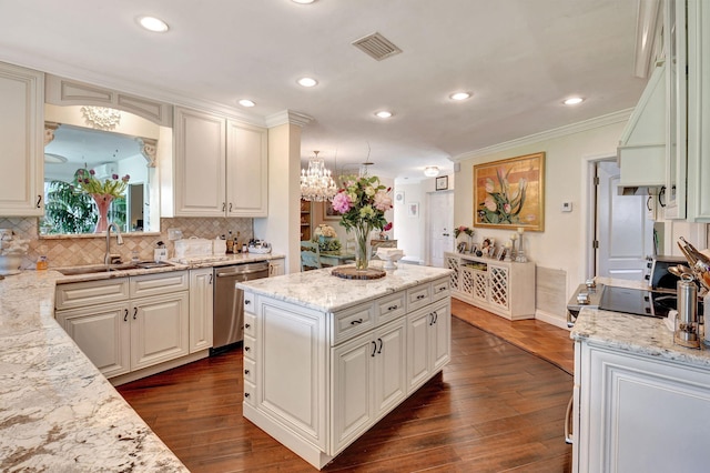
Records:
<instances>
[{"instance_id":1,"label":"cream kitchen island with granite top in the room's centre","mask_svg":"<svg viewBox=\"0 0 710 473\"><path fill-rule=\"evenodd\" d=\"M450 270L331 269L244 290L244 416L317 469L450 359Z\"/></svg>"}]
</instances>

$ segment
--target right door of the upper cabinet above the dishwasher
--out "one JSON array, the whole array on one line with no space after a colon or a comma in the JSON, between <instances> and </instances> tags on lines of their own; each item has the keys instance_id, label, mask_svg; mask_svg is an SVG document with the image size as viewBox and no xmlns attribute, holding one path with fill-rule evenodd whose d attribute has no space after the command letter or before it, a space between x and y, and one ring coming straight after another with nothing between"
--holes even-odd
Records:
<instances>
[{"instance_id":1,"label":"right door of the upper cabinet above the dishwasher","mask_svg":"<svg viewBox=\"0 0 710 473\"><path fill-rule=\"evenodd\" d=\"M266 130L231 120L226 124L226 215L266 217Z\"/></svg>"}]
</instances>

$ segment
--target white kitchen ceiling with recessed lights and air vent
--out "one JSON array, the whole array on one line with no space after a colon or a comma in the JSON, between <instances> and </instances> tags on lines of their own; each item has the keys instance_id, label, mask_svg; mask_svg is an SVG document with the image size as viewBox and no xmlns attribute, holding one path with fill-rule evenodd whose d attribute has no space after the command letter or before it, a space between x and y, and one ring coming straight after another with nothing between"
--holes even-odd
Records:
<instances>
[{"instance_id":1,"label":"white kitchen ceiling with recessed lights and air vent","mask_svg":"<svg viewBox=\"0 0 710 473\"><path fill-rule=\"evenodd\" d=\"M313 118L302 157L418 179L425 165L631 108L637 0L0 0L0 60L264 121ZM164 34L136 26L153 14ZM403 52L351 43L381 32ZM302 76L320 83L296 84ZM474 97L453 102L449 93ZM564 107L571 95L587 98ZM236 101L256 102L243 109ZM374 112L388 109L382 120Z\"/></svg>"}]
</instances>

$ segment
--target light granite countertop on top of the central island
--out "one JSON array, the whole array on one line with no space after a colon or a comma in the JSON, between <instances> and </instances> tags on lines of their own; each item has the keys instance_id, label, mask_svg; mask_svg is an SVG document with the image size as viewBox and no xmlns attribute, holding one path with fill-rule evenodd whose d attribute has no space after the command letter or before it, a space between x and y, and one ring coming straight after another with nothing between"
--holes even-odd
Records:
<instances>
[{"instance_id":1,"label":"light granite countertop on top of the central island","mask_svg":"<svg viewBox=\"0 0 710 473\"><path fill-rule=\"evenodd\" d=\"M324 312L335 312L363 301L392 294L424 282L448 276L443 268L399 264L387 275L374 280L348 280L331 274L332 269L305 271L276 278L237 283L237 288L297 303Z\"/></svg>"}]
</instances>

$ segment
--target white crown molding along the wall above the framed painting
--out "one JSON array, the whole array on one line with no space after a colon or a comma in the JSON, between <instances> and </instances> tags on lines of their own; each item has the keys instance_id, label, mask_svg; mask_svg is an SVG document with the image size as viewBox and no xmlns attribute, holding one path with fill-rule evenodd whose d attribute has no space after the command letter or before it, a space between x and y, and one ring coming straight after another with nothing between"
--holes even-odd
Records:
<instances>
[{"instance_id":1,"label":"white crown molding along the wall above the framed painting","mask_svg":"<svg viewBox=\"0 0 710 473\"><path fill-rule=\"evenodd\" d=\"M620 110L618 112L608 113L606 115L580 121L577 123L566 124L565 127L554 128L551 130L541 131L539 133L528 134L527 137L517 138L510 141L505 141L503 143L494 144L491 147L480 148L475 151L468 151L449 159L454 162L465 161L473 158L494 154L499 151L505 151L511 148L524 147L527 144L538 143L540 141L554 140L557 138L562 138L570 134L575 134L575 133L581 133L584 131L594 130L596 128L607 127L615 123L627 122L629 121L629 117L631 117L632 111L633 109Z\"/></svg>"}]
</instances>

